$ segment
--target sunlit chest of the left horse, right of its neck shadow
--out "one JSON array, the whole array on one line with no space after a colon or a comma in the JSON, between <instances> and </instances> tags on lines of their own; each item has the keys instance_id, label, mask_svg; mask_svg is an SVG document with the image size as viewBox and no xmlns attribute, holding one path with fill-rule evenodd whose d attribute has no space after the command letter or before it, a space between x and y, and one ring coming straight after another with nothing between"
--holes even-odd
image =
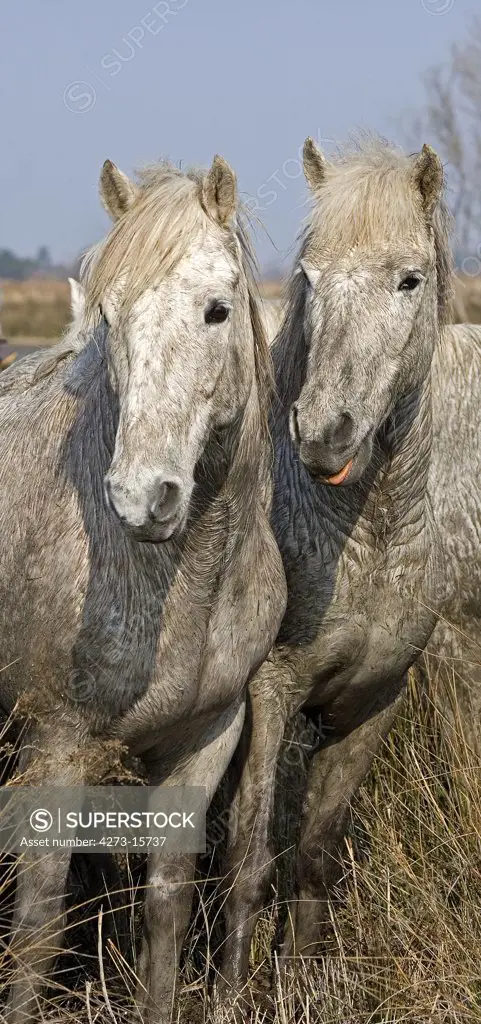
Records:
<instances>
[{"instance_id":1,"label":"sunlit chest of the left horse, right of its neck shadow","mask_svg":"<svg viewBox=\"0 0 481 1024\"><path fill-rule=\"evenodd\" d=\"M181 607L166 614L156 671L121 723L122 738L137 752L182 743L175 724L205 720L232 705L272 647L285 587L266 525L259 527L266 543L254 557L246 541L207 611L183 595Z\"/></svg>"}]
</instances>

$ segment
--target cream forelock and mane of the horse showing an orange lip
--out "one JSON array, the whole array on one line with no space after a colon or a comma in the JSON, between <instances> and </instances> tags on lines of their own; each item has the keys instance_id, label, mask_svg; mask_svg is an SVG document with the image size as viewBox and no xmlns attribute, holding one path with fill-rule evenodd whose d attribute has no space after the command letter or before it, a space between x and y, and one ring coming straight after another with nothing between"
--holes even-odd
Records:
<instances>
[{"instance_id":1,"label":"cream forelock and mane of the horse showing an orange lip","mask_svg":"<svg viewBox=\"0 0 481 1024\"><path fill-rule=\"evenodd\" d=\"M355 246L389 246L397 239L416 244L426 221L421 197L412 185L414 156L368 133L340 147L326 163L325 178L315 190L299 257L309 252L322 261ZM451 229L452 218L442 196L432 218L440 328L449 323L453 298Z\"/></svg>"}]
</instances>

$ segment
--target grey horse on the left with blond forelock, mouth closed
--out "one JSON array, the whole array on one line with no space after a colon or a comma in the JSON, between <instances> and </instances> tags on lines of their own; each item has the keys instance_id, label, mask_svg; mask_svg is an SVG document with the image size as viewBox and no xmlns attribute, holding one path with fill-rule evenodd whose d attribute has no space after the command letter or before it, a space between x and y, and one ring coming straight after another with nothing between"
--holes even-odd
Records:
<instances>
[{"instance_id":1,"label":"grey horse on the left with blond forelock, mouth closed","mask_svg":"<svg viewBox=\"0 0 481 1024\"><path fill-rule=\"evenodd\" d=\"M115 226L74 326L0 379L0 706L32 712L31 782L95 783L117 743L151 784L210 800L286 607L269 353L221 158L139 184L107 161L100 194ZM32 850L18 871L12 1024L40 1012L68 868ZM192 856L149 856L138 1002L158 1024L193 873Z\"/></svg>"}]
</instances>

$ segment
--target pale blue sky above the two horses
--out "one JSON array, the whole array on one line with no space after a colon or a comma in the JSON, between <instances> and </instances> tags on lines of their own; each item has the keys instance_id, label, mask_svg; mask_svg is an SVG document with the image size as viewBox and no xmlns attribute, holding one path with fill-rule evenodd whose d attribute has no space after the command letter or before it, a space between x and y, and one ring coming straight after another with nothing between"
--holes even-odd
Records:
<instances>
[{"instance_id":1,"label":"pale blue sky above the two horses","mask_svg":"<svg viewBox=\"0 0 481 1024\"><path fill-rule=\"evenodd\" d=\"M278 261L303 216L305 135L327 150L358 127L399 140L423 71L466 36L476 7L1 0L0 248L30 255L44 243L67 260L101 237L106 157L130 173L162 156L206 165L219 152L277 247L260 234L261 261Z\"/></svg>"}]
</instances>

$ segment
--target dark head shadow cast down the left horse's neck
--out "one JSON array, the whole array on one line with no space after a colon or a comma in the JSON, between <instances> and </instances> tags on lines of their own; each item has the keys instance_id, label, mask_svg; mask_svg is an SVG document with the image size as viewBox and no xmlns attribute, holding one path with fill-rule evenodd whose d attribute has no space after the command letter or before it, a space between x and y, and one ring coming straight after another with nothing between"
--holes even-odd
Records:
<instances>
[{"instance_id":1,"label":"dark head shadow cast down the left horse's neck","mask_svg":"<svg viewBox=\"0 0 481 1024\"><path fill-rule=\"evenodd\" d=\"M131 540L107 510L103 493L119 423L107 344L107 332L96 329L67 371L63 386L77 399L77 415L60 458L61 471L81 511L89 560L70 696L74 701L85 700L94 731L118 721L147 689L156 671L164 604L189 534L209 515L225 483L235 446L231 435L239 432L235 424L225 437L212 434L209 438L195 467L189 517L179 540L164 544ZM229 525L224 519L219 524L218 548ZM212 597L224 570L222 558L211 567ZM124 668L129 662L137 670L130 676Z\"/></svg>"}]
</instances>

